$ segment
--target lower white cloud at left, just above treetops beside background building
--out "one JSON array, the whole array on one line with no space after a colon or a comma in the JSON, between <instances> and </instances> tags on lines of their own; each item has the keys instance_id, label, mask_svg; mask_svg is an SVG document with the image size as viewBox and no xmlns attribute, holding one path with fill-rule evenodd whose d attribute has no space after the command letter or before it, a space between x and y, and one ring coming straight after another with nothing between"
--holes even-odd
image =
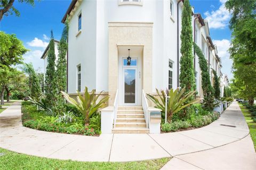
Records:
<instances>
[{"instance_id":1,"label":"lower white cloud at left, just above treetops beside background building","mask_svg":"<svg viewBox=\"0 0 256 170\"><path fill-rule=\"evenodd\" d=\"M43 51L41 50L31 50L25 55L23 55L25 59L25 63L32 63L34 68L36 70L40 70L43 72L43 66L44 66L44 60L41 59L41 56L43 55Z\"/></svg>"}]
</instances>

